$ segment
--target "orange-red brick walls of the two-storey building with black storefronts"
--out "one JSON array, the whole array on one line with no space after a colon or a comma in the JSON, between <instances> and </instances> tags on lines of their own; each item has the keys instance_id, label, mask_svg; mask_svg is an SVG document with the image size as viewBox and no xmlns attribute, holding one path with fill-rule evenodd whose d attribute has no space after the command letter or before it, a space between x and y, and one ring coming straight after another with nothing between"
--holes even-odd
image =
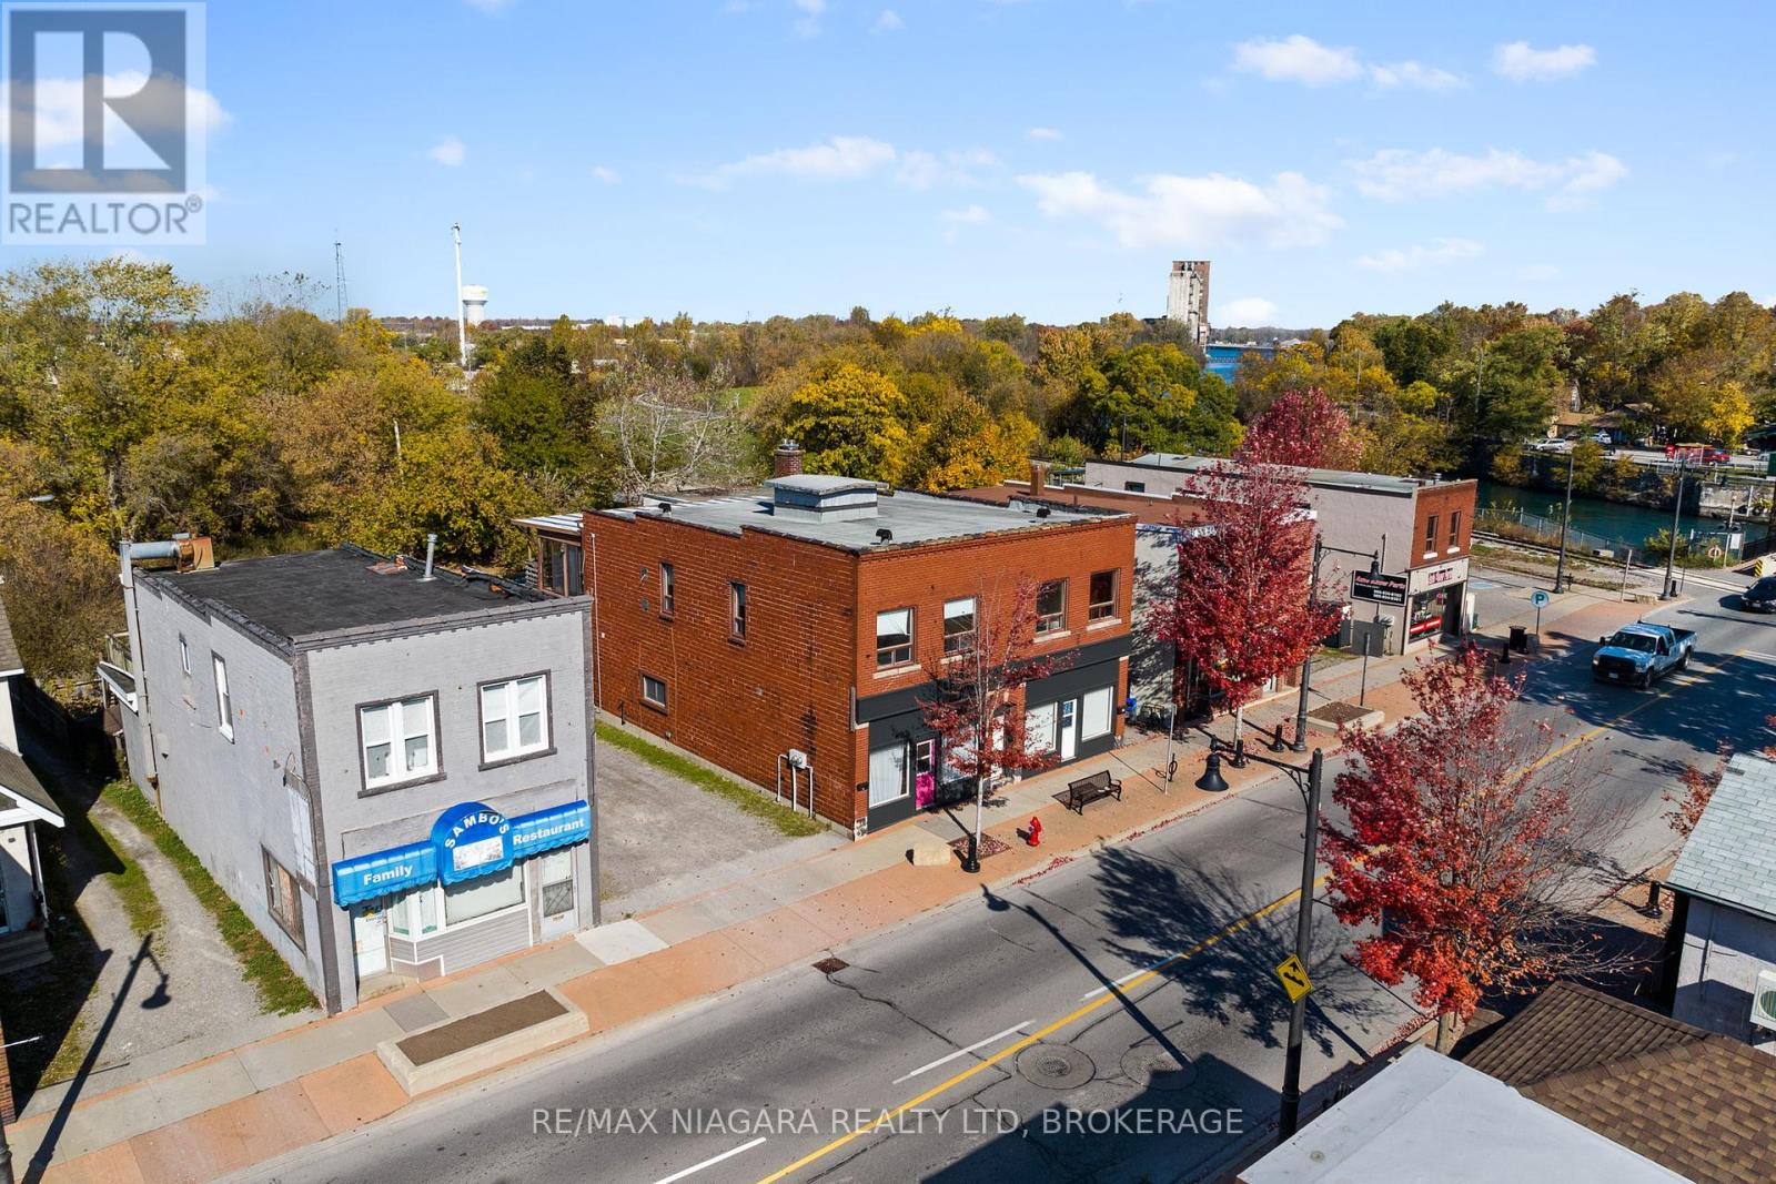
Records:
<instances>
[{"instance_id":1,"label":"orange-red brick walls of the two-storey building with black storefronts","mask_svg":"<svg viewBox=\"0 0 1776 1184\"><path fill-rule=\"evenodd\" d=\"M1057 651L1128 632L1135 524L1106 520L1043 531L886 547L854 554L662 518L588 515L599 572L599 703L655 735L764 786L778 756L810 754L815 809L844 825L865 813L868 730L851 728L851 691L900 691L941 657L943 602L1009 593L1019 573L1067 579L1067 628ZM673 614L661 612L661 563L673 564ZM1087 628L1092 572L1115 570L1117 614ZM748 589L746 639L728 635L728 584ZM915 609L915 664L876 671L877 609ZM641 701L641 675L666 680L668 703ZM1122 687L1117 689L1119 696ZM1121 717L1117 719L1121 728Z\"/></svg>"}]
</instances>

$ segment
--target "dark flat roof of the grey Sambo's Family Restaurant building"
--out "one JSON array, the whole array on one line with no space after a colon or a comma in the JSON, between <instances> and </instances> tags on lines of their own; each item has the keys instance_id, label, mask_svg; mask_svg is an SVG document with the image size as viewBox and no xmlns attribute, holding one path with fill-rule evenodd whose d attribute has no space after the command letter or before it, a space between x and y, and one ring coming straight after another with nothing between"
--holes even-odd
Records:
<instances>
[{"instance_id":1,"label":"dark flat roof of the grey Sambo's Family Restaurant building","mask_svg":"<svg viewBox=\"0 0 1776 1184\"><path fill-rule=\"evenodd\" d=\"M439 570L430 580L423 575L423 563L343 545L234 559L204 572L137 572L135 579L165 584L284 641L485 612L520 600L451 572Z\"/></svg>"}]
</instances>

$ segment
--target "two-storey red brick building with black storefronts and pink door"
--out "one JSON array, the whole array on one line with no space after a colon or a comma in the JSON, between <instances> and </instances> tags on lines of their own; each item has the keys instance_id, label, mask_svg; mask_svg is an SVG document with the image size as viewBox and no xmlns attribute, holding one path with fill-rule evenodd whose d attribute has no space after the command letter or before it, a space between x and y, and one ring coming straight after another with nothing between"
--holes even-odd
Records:
<instances>
[{"instance_id":1,"label":"two-storey red brick building with black storefronts and pink door","mask_svg":"<svg viewBox=\"0 0 1776 1184\"><path fill-rule=\"evenodd\" d=\"M579 525L579 556L568 524ZM975 612L1043 586L1025 687L1060 762L1115 746L1128 687L1135 520L989 506L790 474L764 493L526 520L543 588L595 596L599 706L861 834L955 783L924 722ZM794 769L794 772L792 772Z\"/></svg>"}]
</instances>

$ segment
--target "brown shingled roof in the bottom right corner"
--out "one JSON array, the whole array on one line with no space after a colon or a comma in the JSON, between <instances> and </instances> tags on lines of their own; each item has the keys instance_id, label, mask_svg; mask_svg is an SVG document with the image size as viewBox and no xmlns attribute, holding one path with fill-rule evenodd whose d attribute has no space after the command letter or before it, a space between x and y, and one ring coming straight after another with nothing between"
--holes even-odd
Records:
<instances>
[{"instance_id":1,"label":"brown shingled roof in the bottom right corner","mask_svg":"<svg viewBox=\"0 0 1776 1184\"><path fill-rule=\"evenodd\" d=\"M1465 1063L1693 1180L1776 1180L1776 1058L1730 1037L1554 983Z\"/></svg>"}]
</instances>

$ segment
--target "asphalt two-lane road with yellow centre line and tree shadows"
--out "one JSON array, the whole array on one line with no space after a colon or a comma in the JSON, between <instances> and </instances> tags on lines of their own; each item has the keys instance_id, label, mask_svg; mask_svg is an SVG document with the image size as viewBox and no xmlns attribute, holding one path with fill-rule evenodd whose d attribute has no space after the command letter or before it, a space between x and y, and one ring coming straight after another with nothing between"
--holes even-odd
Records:
<instances>
[{"instance_id":1,"label":"asphalt two-lane road with yellow centre line and tree shadows","mask_svg":"<svg viewBox=\"0 0 1776 1184\"><path fill-rule=\"evenodd\" d=\"M1581 653L1538 667L1522 708L1563 746L1590 737L1598 808L1623 811L1611 873L1673 847L1661 793L1684 763L1776 712L1776 621L1712 593L1653 616L1698 630L1691 671L1652 692L1593 685ZM860 939L836 973L778 973L245 1179L1202 1179L1275 1117L1288 1001L1272 967L1293 943L1300 843L1302 802L1277 777ZM1309 1085L1414 1017L1343 962L1353 934L1323 905L1316 935Z\"/></svg>"}]
</instances>

